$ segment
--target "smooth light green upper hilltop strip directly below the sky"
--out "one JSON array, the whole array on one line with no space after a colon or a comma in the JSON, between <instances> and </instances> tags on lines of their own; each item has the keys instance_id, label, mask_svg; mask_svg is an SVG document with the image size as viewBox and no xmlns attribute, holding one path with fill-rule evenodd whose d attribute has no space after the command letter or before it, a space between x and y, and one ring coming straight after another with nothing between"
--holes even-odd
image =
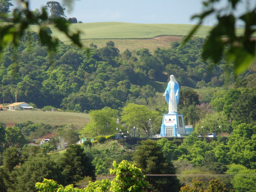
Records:
<instances>
[{"instance_id":1,"label":"smooth light green upper hilltop strip directly below the sky","mask_svg":"<svg viewBox=\"0 0 256 192\"><path fill-rule=\"evenodd\" d=\"M67 37L49 25L53 36L61 41L69 41ZM156 36L187 35L194 25L185 24L138 24L119 22L79 23L71 24L72 30L82 32L81 40L85 39L150 39ZM35 25L31 29L36 31ZM198 30L195 36L205 37L212 26L204 26ZM239 32L241 29L239 29Z\"/></svg>"}]
</instances>

